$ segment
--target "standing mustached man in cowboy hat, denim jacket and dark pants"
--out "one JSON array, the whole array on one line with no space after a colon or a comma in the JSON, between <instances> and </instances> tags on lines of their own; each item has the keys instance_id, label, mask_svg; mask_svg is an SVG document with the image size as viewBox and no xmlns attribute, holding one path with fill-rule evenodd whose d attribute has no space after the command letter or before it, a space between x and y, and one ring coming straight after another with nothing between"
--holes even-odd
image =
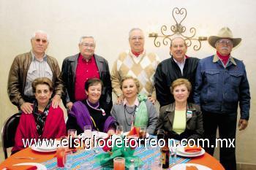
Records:
<instances>
[{"instance_id":1,"label":"standing mustached man in cowboy hat, denim jacket and dark pants","mask_svg":"<svg viewBox=\"0 0 256 170\"><path fill-rule=\"evenodd\" d=\"M251 97L244 63L230 55L241 38L233 38L230 28L225 27L217 36L210 36L208 42L217 53L198 63L194 100L203 112L205 138L210 144L205 146L206 152L213 155L217 128L220 139L236 139L238 103L238 128L241 131L248 125ZM235 142L233 147L220 147L219 159L225 169L236 170Z\"/></svg>"}]
</instances>

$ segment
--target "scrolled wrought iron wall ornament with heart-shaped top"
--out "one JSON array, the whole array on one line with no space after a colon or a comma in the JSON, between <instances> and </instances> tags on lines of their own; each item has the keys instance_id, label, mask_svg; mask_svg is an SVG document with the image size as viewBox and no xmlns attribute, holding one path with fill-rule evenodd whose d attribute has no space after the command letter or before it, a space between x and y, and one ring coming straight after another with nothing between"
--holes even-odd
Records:
<instances>
[{"instance_id":1,"label":"scrolled wrought iron wall ornament with heart-shaped top","mask_svg":"<svg viewBox=\"0 0 256 170\"><path fill-rule=\"evenodd\" d=\"M187 9L181 8L178 9L175 7L173 9L173 19L175 20L176 24L173 26L170 26L170 31L171 34L167 34L170 31L167 31L167 26L163 25L161 27L161 35L158 35L157 33L150 33L148 36L149 37L154 37L154 45L156 47L160 47L161 42L158 40L158 38L162 38L162 44L163 45L168 45L168 42L172 42L173 38L176 36L180 36L183 38L187 44L187 47L190 47L192 45L192 42L195 42L196 45L193 46L194 50L200 50L201 47L201 42L204 40L207 40L206 36L199 36L198 38L195 37L196 34L196 29L195 27L192 27L189 29L189 34L187 35L186 31L187 28L185 26L182 26L182 22L185 20L187 17ZM180 22L178 22L178 17L180 17Z\"/></svg>"}]
</instances>

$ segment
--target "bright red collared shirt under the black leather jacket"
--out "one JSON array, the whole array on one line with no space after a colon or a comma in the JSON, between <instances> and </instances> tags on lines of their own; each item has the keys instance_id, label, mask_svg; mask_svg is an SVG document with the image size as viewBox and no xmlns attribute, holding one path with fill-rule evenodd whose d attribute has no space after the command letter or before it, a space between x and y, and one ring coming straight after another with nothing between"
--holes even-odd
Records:
<instances>
[{"instance_id":1,"label":"bright red collared shirt under the black leather jacket","mask_svg":"<svg viewBox=\"0 0 256 170\"><path fill-rule=\"evenodd\" d=\"M78 57L78 66L75 72L75 101L83 101L87 98L84 85L90 78L99 79L99 69L94 55L86 61L83 55Z\"/></svg>"}]
</instances>

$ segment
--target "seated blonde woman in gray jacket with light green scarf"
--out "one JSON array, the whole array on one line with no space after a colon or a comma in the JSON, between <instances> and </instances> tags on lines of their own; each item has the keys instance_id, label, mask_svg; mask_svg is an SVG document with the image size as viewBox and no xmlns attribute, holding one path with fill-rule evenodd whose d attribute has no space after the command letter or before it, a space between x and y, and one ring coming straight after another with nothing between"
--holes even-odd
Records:
<instances>
[{"instance_id":1,"label":"seated blonde woman in gray jacket with light green scarf","mask_svg":"<svg viewBox=\"0 0 256 170\"><path fill-rule=\"evenodd\" d=\"M157 111L147 96L138 94L140 83L134 77L124 77L121 80L121 90L124 101L114 104L111 115L123 125L124 131L130 131L132 126L145 126L149 134L154 134L157 124Z\"/></svg>"}]
</instances>

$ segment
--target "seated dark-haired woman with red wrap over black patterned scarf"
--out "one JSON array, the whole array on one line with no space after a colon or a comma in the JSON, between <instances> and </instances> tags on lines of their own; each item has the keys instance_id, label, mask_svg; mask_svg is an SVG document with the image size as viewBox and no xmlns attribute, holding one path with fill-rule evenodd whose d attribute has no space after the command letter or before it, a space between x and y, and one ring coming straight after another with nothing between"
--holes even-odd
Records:
<instances>
[{"instance_id":1,"label":"seated dark-haired woman with red wrap over black patterned scarf","mask_svg":"<svg viewBox=\"0 0 256 170\"><path fill-rule=\"evenodd\" d=\"M62 109L60 107L53 109L51 104L53 82L46 77L37 78L32 82L32 89L36 98L33 112L22 113L20 116L12 153L22 150L26 139L56 139L66 133Z\"/></svg>"}]
</instances>

